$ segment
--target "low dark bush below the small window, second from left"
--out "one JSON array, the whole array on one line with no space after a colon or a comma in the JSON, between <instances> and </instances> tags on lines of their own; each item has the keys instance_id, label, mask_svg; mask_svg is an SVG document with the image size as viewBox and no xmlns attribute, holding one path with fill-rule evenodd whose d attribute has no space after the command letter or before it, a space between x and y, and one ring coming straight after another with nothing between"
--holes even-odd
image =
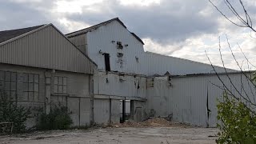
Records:
<instances>
[{"instance_id":1,"label":"low dark bush below the small window, second from left","mask_svg":"<svg viewBox=\"0 0 256 144\"><path fill-rule=\"evenodd\" d=\"M38 130L65 130L73 123L66 106L53 106L50 114L38 116Z\"/></svg>"}]
</instances>

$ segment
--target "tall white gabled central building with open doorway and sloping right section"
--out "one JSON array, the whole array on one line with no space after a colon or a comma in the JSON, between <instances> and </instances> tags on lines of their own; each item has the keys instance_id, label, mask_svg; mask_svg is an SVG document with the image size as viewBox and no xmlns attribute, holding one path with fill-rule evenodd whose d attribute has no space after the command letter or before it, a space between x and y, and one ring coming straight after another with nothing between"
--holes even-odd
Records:
<instances>
[{"instance_id":1,"label":"tall white gabled central building with open doorway and sloping right section","mask_svg":"<svg viewBox=\"0 0 256 144\"><path fill-rule=\"evenodd\" d=\"M98 65L94 74L94 114L99 117L95 122L117 122L120 100L121 116L130 111L134 121L167 117L172 114L168 106L174 104L165 99L173 97L172 76L214 73L212 66L202 62L145 52L142 40L118 18L66 37ZM225 72L222 67L214 68L219 73ZM129 106L123 106L126 101Z\"/></svg>"}]
</instances>

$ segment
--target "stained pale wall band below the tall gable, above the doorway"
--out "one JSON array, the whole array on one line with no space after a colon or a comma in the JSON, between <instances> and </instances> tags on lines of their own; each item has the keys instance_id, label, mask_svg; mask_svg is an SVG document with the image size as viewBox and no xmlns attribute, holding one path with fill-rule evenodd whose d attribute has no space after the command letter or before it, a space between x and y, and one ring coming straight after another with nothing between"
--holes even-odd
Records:
<instances>
[{"instance_id":1,"label":"stained pale wall band below the tall gable, above the doorway","mask_svg":"<svg viewBox=\"0 0 256 144\"><path fill-rule=\"evenodd\" d=\"M98 72L94 75L94 94L146 98L146 78Z\"/></svg>"}]
</instances>

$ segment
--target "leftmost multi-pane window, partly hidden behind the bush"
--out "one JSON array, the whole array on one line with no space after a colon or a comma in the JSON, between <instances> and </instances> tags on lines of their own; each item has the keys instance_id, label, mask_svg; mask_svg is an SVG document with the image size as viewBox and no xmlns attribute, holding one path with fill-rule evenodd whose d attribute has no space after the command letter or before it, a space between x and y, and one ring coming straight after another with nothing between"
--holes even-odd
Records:
<instances>
[{"instance_id":1,"label":"leftmost multi-pane window, partly hidden behind the bush","mask_svg":"<svg viewBox=\"0 0 256 144\"><path fill-rule=\"evenodd\" d=\"M0 71L0 90L7 95L7 98L16 100L17 73Z\"/></svg>"}]
</instances>

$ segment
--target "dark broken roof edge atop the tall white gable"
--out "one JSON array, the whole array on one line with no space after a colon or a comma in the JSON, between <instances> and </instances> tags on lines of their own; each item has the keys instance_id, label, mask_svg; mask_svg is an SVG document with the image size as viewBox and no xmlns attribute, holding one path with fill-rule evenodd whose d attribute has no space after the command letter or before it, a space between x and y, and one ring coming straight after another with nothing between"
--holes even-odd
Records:
<instances>
[{"instance_id":1,"label":"dark broken roof edge atop the tall white gable","mask_svg":"<svg viewBox=\"0 0 256 144\"><path fill-rule=\"evenodd\" d=\"M106 22L101 22L97 25L87 27L86 29L82 29L82 30L78 30L78 31L74 31L72 33L66 34L66 37L67 38L72 38L72 37L75 37L75 36L78 36L78 35L81 35L81 34L86 34L86 33L90 32L91 30L97 29L98 27L101 27L101 26L105 26L106 24L108 24L110 22L113 22L113 21L119 22L122 26L124 26L127 29L127 27L123 24L123 22L119 18L113 18L113 19L110 19ZM142 41L142 39L138 38L138 36L136 34L134 34L132 32L130 32L130 34L132 34L139 42L142 42L142 44L144 45L144 42Z\"/></svg>"}]
</instances>

